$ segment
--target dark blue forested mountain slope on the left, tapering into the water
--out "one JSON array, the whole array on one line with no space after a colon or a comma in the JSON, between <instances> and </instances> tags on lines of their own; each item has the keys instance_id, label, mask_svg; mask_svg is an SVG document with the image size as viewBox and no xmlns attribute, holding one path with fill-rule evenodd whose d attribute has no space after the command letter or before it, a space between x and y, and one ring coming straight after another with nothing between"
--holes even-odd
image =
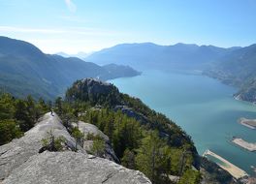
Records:
<instances>
[{"instance_id":1,"label":"dark blue forested mountain slope on the left, tapering into the water","mask_svg":"<svg viewBox=\"0 0 256 184\"><path fill-rule=\"evenodd\" d=\"M127 66L98 66L77 57L45 54L29 43L0 37L0 91L16 97L31 94L52 99L63 95L67 86L83 77L110 79L137 75L140 73Z\"/></svg>"}]
</instances>

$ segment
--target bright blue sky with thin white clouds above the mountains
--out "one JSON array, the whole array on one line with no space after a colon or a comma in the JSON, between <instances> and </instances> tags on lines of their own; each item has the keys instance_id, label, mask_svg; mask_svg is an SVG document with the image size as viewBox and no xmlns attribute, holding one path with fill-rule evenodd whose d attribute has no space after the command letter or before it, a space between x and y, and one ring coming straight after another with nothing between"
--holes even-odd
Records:
<instances>
[{"instance_id":1,"label":"bright blue sky with thin white clouds above the mountains","mask_svg":"<svg viewBox=\"0 0 256 184\"><path fill-rule=\"evenodd\" d=\"M0 35L47 53L152 42L256 43L255 0L0 0Z\"/></svg>"}]
</instances>

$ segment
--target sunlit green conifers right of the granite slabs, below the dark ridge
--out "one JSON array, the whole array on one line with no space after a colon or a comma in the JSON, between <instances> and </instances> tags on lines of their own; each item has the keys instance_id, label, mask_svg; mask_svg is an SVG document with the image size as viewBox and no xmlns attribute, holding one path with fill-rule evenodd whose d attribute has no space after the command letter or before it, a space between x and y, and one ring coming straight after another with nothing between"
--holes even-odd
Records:
<instances>
[{"instance_id":1,"label":"sunlit green conifers right of the granite slabs, below the dark ridge","mask_svg":"<svg viewBox=\"0 0 256 184\"><path fill-rule=\"evenodd\" d=\"M153 183L170 183L169 175L182 178L188 173L191 176L180 179L180 183L200 181L200 172L192 169L193 156L185 144L181 147L170 145L168 138L159 136L159 131L148 129L120 110L87 108L80 120L96 125L111 139L122 166L143 171Z\"/></svg>"}]
</instances>

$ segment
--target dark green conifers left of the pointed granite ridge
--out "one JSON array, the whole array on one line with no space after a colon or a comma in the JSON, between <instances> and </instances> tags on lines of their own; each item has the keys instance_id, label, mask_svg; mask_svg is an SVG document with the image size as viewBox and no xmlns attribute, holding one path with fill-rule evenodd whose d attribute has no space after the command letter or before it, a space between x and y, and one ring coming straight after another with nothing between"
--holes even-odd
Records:
<instances>
[{"instance_id":1,"label":"dark green conifers left of the pointed granite ridge","mask_svg":"<svg viewBox=\"0 0 256 184\"><path fill-rule=\"evenodd\" d=\"M13 138L21 137L48 109L49 105L43 99L35 101L31 96L16 99L10 94L1 94L0 145L8 143Z\"/></svg>"}]
</instances>

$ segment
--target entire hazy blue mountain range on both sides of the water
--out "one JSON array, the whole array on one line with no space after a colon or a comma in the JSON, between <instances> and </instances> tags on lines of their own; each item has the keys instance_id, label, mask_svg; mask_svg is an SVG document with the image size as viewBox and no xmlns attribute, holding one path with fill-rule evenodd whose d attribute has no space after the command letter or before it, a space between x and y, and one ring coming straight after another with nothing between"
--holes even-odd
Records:
<instances>
[{"instance_id":1,"label":"entire hazy blue mountain range on both sides of the water","mask_svg":"<svg viewBox=\"0 0 256 184\"><path fill-rule=\"evenodd\" d=\"M50 99L63 95L67 86L80 78L106 80L140 75L133 67L142 71L197 70L237 87L237 99L256 102L256 45L224 48L122 44L93 52L84 59L86 62L59 54L65 57L45 54L29 43L0 37L1 91L17 97L32 94Z\"/></svg>"}]
</instances>

